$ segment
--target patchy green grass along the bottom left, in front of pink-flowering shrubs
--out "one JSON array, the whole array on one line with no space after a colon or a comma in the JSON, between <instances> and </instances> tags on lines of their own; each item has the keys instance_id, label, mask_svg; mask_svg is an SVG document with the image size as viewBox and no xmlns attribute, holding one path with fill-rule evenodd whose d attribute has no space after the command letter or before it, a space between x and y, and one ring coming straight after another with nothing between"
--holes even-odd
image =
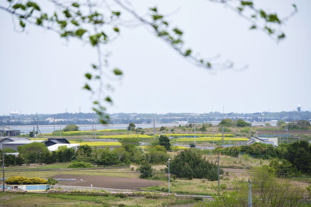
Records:
<instances>
[{"instance_id":1,"label":"patchy green grass along the bottom left, in front of pink-flowering shrubs","mask_svg":"<svg viewBox=\"0 0 311 207\"><path fill-rule=\"evenodd\" d=\"M32 205L35 206L49 206L49 207L112 207L124 204L126 207L154 207L154 206L171 206L182 204L194 204L197 198L192 197L177 197L165 196L156 198L144 197L105 197L105 196L67 196L67 195L49 195L39 193L28 193L26 195L16 194L2 194L0 195L0 205ZM50 205L40 205L50 204ZM32 207L32 206L30 206Z\"/></svg>"}]
</instances>

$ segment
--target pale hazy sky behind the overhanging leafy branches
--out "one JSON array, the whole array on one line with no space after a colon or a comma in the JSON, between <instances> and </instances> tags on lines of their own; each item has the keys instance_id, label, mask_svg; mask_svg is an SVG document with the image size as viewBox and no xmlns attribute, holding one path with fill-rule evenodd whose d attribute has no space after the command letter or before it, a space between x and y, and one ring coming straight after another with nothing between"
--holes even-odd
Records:
<instances>
[{"instance_id":1,"label":"pale hazy sky behind the overhanging leafy branches","mask_svg":"<svg viewBox=\"0 0 311 207\"><path fill-rule=\"evenodd\" d=\"M41 2L41 1L37 1ZM249 22L224 7L205 0L130 1L140 14L158 6L160 13L174 12L170 23L184 31L185 45L194 54L219 62L232 60L248 69L216 74L198 68L172 50L146 27L120 27L120 37L103 47L110 51L110 71L123 70L113 81L113 106L108 112L262 112L311 110L311 1L255 1L280 17L298 13L282 29L287 38L272 41ZM90 112L91 94L82 89L84 74L96 62L94 48L59 38L53 32L30 26L15 32L12 18L0 11L0 114Z\"/></svg>"}]
</instances>

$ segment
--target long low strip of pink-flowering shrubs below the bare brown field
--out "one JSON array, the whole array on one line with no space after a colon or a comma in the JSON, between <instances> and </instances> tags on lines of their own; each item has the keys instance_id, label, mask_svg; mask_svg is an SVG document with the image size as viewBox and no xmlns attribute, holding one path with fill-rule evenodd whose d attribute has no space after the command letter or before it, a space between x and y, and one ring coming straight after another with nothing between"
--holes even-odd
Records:
<instances>
[{"instance_id":1,"label":"long low strip of pink-flowering shrubs below the bare brown field","mask_svg":"<svg viewBox=\"0 0 311 207\"><path fill-rule=\"evenodd\" d=\"M96 191L90 189L76 189L76 190L64 190L64 189L50 189L47 191L49 194L66 194L66 195L87 195L87 196L116 196L116 197L127 197L127 196L176 196L176 194L168 193L156 193L147 191L135 191L135 192L116 192L116 191Z\"/></svg>"}]
</instances>

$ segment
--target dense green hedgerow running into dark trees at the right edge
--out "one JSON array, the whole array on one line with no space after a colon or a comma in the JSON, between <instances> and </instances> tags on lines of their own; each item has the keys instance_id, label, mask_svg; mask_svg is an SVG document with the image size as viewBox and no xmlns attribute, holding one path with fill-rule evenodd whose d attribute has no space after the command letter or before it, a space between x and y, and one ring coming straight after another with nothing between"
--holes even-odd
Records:
<instances>
[{"instance_id":1,"label":"dense green hedgerow running into dark trees at the right edge","mask_svg":"<svg viewBox=\"0 0 311 207\"><path fill-rule=\"evenodd\" d=\"M256 158L273 159L276 158L282 166L278 166L275 161L270 167L276 171L280 168L294 168L290 173L311 174L311 144L308 141L299 141L294 143L279 144L279 147L273 145L254 143L252 145L231 146L226 148L216 148L213 152L219 152L222 155L237 157L241 153L251 155ZM295 170L297 169L297 172ZM282 170L281 170L282 171ZM298 172L299 171L299 172ZM282 174L280 172L279 174Z\"/></svg>"}]
</instances>

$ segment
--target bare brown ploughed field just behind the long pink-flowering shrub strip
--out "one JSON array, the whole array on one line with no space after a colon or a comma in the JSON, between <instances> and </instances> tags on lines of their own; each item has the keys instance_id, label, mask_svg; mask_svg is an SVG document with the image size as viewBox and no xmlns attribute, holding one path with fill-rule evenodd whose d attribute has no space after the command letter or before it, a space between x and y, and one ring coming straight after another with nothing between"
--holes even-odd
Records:
<instances>
[{"instance_id":1,"label":"bare brown ploughed field just behind the long pink-flowering shrub strip","mask_svg":"<svg viewBox=\"0 0 311 207\"><path fill-rule=\"evenodd\" d=\"M75 178L77 181L60 181L59 185L67 186L83 186L115 188L137 190L140 187L150 187L162 185L163 182L155 180L145 180L138 178L118 178L118 177L104 177L104 176L87 176L87 175L56 175L53 178ZM83 181L80 181L82 179Z\"/></svg>"}]
</instances>

